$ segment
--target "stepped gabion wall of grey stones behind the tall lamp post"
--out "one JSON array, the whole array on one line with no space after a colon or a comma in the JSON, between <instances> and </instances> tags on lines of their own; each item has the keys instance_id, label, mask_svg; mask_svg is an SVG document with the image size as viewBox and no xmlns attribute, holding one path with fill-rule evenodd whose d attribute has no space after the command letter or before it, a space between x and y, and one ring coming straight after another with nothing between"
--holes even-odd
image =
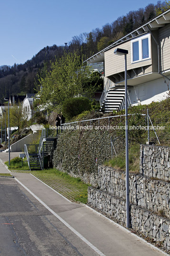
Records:
<instances>
[{"instance_id":1,"label":"stepped gabion wall of grey stones behind the tall lamp post","mask_svg":"<svg viewBox=\"0 0 170 256\"><path fill-rule=\"evenodd\" d=\"M170 250L170 148L141 145L140 173L130 173L130 225ZM100 165L88 202L126 223L126 173Z\"/></svg>"}]
</instances>

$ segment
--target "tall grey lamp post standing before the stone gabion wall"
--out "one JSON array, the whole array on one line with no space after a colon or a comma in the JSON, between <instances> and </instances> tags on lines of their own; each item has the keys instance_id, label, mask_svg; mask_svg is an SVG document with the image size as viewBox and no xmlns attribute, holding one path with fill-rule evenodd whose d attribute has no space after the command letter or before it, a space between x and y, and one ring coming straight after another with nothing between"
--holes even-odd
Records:
<instances>
[{"instance_id":1,"label":"tall grey lamp post standing before the stone gabion wall","mask_svg":"<svg viewBox=\"0 0 170 256\"><path fill-rule=\"evenodd\" d=\"M114 54L125 57L125 132L126 132L126 227L130 227L129 200L129 141L128 141L128 85L127 85L127 54L128 50L117 48Z\"/></svg>"}]
</instances>

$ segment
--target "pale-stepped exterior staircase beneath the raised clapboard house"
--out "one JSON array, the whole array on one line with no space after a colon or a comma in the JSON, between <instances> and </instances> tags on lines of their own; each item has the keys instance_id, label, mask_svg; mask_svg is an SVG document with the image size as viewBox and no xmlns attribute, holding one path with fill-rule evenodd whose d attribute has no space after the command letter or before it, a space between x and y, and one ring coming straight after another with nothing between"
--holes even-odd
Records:
<instances>
[{"instance_id":1,"label":"pale-stepped exterior staircase beneath the raised clapboard house","mask_svg":"<svg viewBox=\"0 0 170 256\"><path fill-rule=\"evenodd\" d=\"M121 110L124 108L125 88L124 86L115 86L110 88L101 104L100 111L112 112L113 110Z\"/></svg>"}]
</instances>

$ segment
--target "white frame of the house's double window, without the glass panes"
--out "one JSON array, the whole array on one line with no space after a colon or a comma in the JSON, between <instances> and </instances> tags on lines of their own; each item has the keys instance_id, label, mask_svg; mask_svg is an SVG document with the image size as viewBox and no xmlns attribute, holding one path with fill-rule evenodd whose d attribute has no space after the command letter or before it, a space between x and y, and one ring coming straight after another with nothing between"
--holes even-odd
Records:
<instances>
[{"instance_id":1,"label":"white frame of the house's double window, without the glass panes","mask_svg":"<svg viewBox=\"0 0 170 256\"><path fill-rule=\"evenodd\" d=\"M149 57L148 58L142 58L142 40L148 38L148 46L149 46ZM133 61L133 43L139 42L139 60ZM151 59L151 50L150 50L150 33L145 34L143 36L137 37L133 40L131 40L131 63L137 63L141 61L146 61Z\"/></svg>"}]
</instances>

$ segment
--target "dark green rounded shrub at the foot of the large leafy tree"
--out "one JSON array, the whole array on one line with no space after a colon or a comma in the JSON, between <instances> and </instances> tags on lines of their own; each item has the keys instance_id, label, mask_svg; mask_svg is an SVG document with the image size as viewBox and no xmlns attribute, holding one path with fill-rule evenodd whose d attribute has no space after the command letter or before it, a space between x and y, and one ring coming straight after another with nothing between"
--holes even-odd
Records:
<instances>
[{"instance_id":1,"label":"dark green rounded shrub at the foot of the large leafy tree","mask_svg":"<svg viewBox=\"0 0 170 256\"><path fill-rule=\"evenodd\" d=\"M85 97L66 99L63 102L62 113L67 120L91 109L91 101Z\"/></svg>"}]
</instances>

